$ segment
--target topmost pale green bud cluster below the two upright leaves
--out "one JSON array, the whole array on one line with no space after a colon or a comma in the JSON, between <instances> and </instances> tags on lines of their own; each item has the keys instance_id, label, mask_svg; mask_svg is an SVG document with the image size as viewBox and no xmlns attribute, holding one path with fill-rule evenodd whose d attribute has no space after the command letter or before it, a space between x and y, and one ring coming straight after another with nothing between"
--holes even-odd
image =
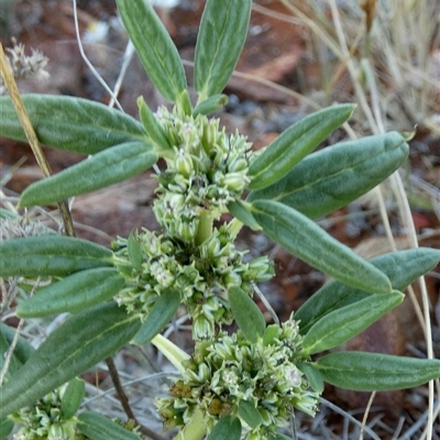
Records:
<instances>
[{"instance_id":1,"label":"topmost pale green bud cluster below the two upright leaves","mask_svg":"<svg viewBox=\"0 0 440 440\"><path fill-rule=\"evenodd\" d=\"M202 213L219 219L227 205L240 197L249 183L251 143L238 133L228 136L218 119L157 112L174 155L157 176L158 198L154 212L169 237L185 242L196 239Z\"/></svg>"}]
</instances>

